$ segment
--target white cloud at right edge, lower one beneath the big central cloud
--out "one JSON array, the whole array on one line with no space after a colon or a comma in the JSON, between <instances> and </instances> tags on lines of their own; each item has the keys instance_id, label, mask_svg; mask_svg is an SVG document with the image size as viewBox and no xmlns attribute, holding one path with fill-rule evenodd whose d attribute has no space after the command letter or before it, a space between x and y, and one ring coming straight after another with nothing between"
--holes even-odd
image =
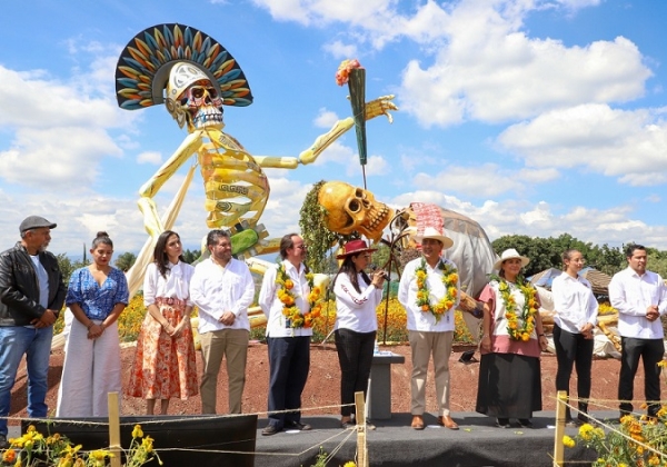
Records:
<instances>
[{"instance_id":1,"label":"white cloud at right edge, lower one beneath the big central cloud","mask_svg":"<svg viewBox=\"0 0 667 467\"><path fill-rule=\"evenodd\" d=\"M661 185L667 181L666 111L583 105L514 125L498 141L530 166L581 166L631 186Z\"/></svg>"}]
</instances>

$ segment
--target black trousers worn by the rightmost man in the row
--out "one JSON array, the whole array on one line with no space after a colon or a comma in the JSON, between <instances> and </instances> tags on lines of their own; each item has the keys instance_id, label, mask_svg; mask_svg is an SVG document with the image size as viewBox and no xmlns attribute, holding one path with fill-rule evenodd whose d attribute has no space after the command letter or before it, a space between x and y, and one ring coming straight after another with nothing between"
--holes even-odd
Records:
<instances>
[{"instance_id":1,"label":"black trousers worn by the rightmost man in the row","mask_svg":"<svg viewBox=\"0 0 667 467\"><path fill-rule=\"evenodd\" d=\"M644 395L648 404L648 415L655 417L660 409L660 367L658 361L665 354L663 339L620 338L620 375L618 378L618 399L620 413L633 411L633 389L635 375L639 367L639 357L644 361Z\"/></svg>"}]
</instances>

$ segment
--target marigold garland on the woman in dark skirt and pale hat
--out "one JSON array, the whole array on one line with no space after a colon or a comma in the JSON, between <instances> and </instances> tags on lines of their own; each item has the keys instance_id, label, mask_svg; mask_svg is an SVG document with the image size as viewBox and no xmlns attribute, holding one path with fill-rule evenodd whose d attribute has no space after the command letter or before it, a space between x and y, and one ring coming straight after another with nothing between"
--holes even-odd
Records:
<instances>
[{"instance_id":1,"label":"marigold garland on the woman in dark skirt and pale hat","mask_svg":"<svg viewBox=\"0 0 667 467\"><path fill-rule=\"evenodd\" d=\"M491 276L490 279L498 282L500 298L505 305L505 318L507 319L509 337L514 340L527 342L535 329L535 315L539 309L539 304L535 298L537 291L521 276L517 276L514 285L499 276ZM512 287L516 287L524 295L524 306L520 315L517 312L517 302L511 295Z\"/></svg>"}]
</instances>

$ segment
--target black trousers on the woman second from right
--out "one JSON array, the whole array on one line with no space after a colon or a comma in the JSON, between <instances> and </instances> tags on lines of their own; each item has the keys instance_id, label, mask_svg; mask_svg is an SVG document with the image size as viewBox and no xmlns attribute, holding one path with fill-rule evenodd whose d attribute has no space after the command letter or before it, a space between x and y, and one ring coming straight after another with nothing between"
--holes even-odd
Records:
<instances>
[{"instance_id":1,"label":"black trousers on the woman second from right","mask_svg":"<svg viewBox=\"0 0 667 467\"><path fill-rule=\"evenodd\" d=\"M554 346L558 370L556 371L556 390L564 390L569 395L569 380L573 367L577 370L577 397L590 397L590 369L593 366L593 339L585 339L581 334L573 334L554 325ZM588 413L588 404L579 403L579 410ZM571 418L569 407L566 418Z\"/></svg>"}]
</instances>

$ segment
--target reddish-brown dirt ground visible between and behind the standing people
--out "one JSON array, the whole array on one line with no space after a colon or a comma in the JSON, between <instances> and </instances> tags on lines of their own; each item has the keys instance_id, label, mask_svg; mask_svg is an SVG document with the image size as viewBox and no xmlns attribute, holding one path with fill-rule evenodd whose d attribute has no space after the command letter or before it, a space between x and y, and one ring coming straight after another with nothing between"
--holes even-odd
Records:
<instances>
[{"instance_id":1,"label":"reddish-brown dirt ground visible between and behind the standing people","mask_svg":"<svg viewBox=\"0 0 667 467\"><path fill-rule=\"evenodd\" d=\"M402 365L392 365L391 370L391 410L394 413L409 413L410 403L410 348L409 346L381 347L382 350L391 350L404 355L406 362ZM469 347L455 347L450 358L451 375L451 410L474 411L477 393L477 379L479 364L465 365L458 361L461 351ZM338 357L334 345L327 344L312 345L310 375L306 389L303 390L302 405L305 409L311 409L303 413L303 417L309 414L339 414L337 406L340 404L339 386L340 369ZM123 385L127 385L130 377L130 369L133 361L135 348L129 347L122 350L123 362ZM479 358L479 354L476 354ZM54 350L51 356L51 368L49 371L49 393L47 404L49 413L54 413L58 396L58 384L62 371L62 350ZM197 358L197 365L201 371L201 359ZM618 371L620 364L615 359L596 359L593 362L593 394L594 399L614 400L617 398L616 390L618 386ZM260 418L266 417L267 409L267 385L268 385L268 352L263 344L251 342L248 349L247 382L243 393L243 413L260 414ZM432 384L432 366L429 368L429 382L427 384L427 410L436 411L435 385ZM556 378L556 357L551 354L542 354L541 357L541 380L542 380L542 406L545 410L555 409L555 378ZM635 396L637 399L644 396L643 371L639 370L635 380ZM218 414L228 411L227 400L227 375L225 365L220 370L218 380ZM10 417L26 417L26 367L24 364L19 368L17 382L12 390L12 405ZM576 374L573 374L571 388L576 388ZM576 394L576 393L574 393ZM132 397L122 397L122 415L142 415L145 413L145 401ZM616 410L617 404L609 403L603 406L591 405L593 411ZM201 411L199 396L189 400L172 400L169 414L171 415L196 415ZM10 420L10 425L18 425L18 420ZM260 421L260 426L263 424Z\"/></svg>"}]
</instances>

